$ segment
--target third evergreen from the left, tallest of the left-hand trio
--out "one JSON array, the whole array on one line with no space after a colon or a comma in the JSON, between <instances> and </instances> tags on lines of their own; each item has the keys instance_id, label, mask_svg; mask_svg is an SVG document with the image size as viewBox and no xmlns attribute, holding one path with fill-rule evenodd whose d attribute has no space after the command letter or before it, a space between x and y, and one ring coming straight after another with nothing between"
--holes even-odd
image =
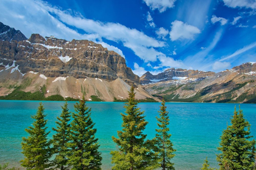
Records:
<instances>
[{"instance_id":1,"label":"third evergreen from the left, tallest of the left-hand trio","mask_svg":"<svg viewBox=\"0 0 256 170\"><path fill-rule=\"evenodd\" d=\"M86 106L84 97L74 105L74 109L77 113L72 115L68 164L77 170L101 169L102 157L98 151L98 138L95 138L96 129L93 129L95 123L91 120L91 109Z\"/></svg>"}]
</instances>

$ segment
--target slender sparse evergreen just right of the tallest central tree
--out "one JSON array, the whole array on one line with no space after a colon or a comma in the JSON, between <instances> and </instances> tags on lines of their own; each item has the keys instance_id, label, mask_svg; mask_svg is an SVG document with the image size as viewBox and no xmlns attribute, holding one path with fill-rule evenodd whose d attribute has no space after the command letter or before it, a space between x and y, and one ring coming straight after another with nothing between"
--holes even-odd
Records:
<instances>
[{"instance_id":1,"label":"slender sparse evergreen just right of the tallest central tree","mask_svg":"<svg viewBox=\"0 0 256 170\"><path fill-rule=\"evenodd\" d=\"M155 135L155 151L159 153L158 162L160 167L165 169L174 169L174 163L171 163L171 158L174 157L173 152L176 150L172 148L173 144L169 138L169 116L168 111L166 111L165 100L162 101L162 106L160 106L159 118L157 117L157 126L159 129L155 129L157 134Z\"/></svg>"}]
</instances>

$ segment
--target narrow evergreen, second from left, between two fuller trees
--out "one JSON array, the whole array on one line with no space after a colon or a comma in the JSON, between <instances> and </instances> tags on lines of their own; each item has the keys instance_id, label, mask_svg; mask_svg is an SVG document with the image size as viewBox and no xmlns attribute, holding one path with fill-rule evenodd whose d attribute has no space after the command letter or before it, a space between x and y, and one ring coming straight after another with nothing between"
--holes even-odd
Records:
<instances>
[{"instance_id":1,"label":"narrow evergreen, second from left, between two fuller trees","mask_svg":"<svg viewBox=\"0 0 256 170\"><path fill-rule=\"evenodd\" d=\"M70 112L68 110L68 103L65 103L62 106L62 114L60 117L57 117L59 121L56 121L57 128L52 128L56 132L53 135L53 146L54 146L54 165L55 168L69 169L67 166L68 162L68 152L69 152L69 134L70 134L70 124L68 123L70 120Z\"/></svg>"}]
</instances>

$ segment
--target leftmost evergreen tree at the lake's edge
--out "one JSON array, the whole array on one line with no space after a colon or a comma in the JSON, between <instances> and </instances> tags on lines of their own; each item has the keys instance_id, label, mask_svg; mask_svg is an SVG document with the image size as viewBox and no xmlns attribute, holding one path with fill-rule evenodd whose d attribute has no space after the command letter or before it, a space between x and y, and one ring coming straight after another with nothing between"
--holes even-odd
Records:
<instances>
[{"instance_id":1,"label":"leftmost evergreen tree at the lake's edge","mask_svg":"<svg viewBox=\"0 0 256 170\"><path fill-rule=\"evenodd\" d=\"M21 160L21 166L27 169L48 169L51 167L50 158L52 156L52 149L50 148L51 141L47 136L49 132L46 132L46 122L44 118L44 107L40 103L37 114L32 116L34 118L33 126L25 129L29 133L29 137L23 137L22 153L24 154L24 160Z\"/></svg>"}]
</instances>

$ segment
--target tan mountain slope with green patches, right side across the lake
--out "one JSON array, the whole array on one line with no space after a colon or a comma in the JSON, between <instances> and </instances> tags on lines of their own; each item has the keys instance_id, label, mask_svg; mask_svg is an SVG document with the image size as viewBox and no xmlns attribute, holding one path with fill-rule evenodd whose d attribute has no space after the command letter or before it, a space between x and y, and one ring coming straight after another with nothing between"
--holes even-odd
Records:
<instances>
[{"instance_id":1,"label":"tan mountain slope with green patches, right side across the lake","mask_svg":"<svg viewBox=\"0 0 256 170\"><path fill-rule=\"evenodd\" d=\"M166 71L164 73L166 74ZM149 73L146 73L141 79L148 75ZM173 80L173 77L171 80L166 78L165 81L144 84L143 87L149 94L164 97L166 101L256 103L256 63L244 63L230 70L210 73L207 77L188 77L179 80Z\"/></svg>"}]
</instances>

